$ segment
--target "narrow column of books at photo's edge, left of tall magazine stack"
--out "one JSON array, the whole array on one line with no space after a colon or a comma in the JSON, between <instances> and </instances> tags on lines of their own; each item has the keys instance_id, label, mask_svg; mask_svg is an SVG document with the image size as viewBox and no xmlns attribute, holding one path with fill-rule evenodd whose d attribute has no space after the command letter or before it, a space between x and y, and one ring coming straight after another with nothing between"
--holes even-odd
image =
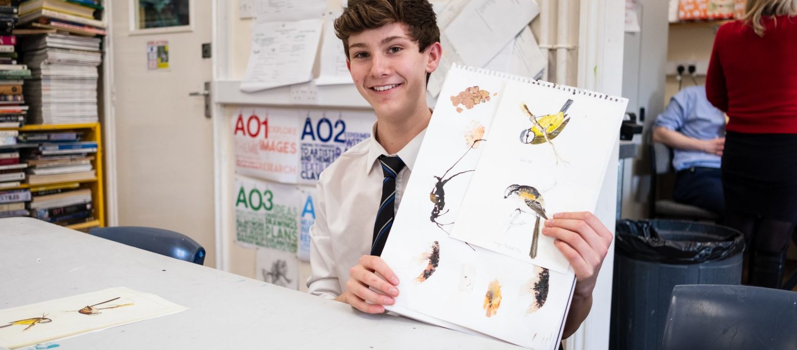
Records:
<instances>
[{"instance_id":1,"label":"narrow column of books at photo's edge, left of tall magazine stack","mask_svg":"<svg viewBox=\"0 0 797 350\"><path fill-rule=\"evenodd\" d=\"M22 105L22 84L30 77L30 71L26 65L17 64L17 37L12 34L17 12L10 0L0 0L0 128L20 128L25 124L27 106Z\"/></svg>"}]
</instances>

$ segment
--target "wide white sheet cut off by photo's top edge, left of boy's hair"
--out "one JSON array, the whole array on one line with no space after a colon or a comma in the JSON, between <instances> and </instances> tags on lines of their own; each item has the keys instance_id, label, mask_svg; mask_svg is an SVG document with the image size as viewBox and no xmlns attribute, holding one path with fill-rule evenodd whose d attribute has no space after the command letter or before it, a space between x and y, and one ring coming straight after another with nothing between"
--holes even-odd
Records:
<instances>
[{"instance_id":1,"label":"wide white sheet cut off by photo's top edge, left of boy's hair","mask_svg":"<svg viewBox=\"0 0 797 350\"><path fill-rule=\"evenodd\" d=\"M257 22L301 21L320 18L327 10L326 0L253 0Z\"/></svg>"}]
</instances>

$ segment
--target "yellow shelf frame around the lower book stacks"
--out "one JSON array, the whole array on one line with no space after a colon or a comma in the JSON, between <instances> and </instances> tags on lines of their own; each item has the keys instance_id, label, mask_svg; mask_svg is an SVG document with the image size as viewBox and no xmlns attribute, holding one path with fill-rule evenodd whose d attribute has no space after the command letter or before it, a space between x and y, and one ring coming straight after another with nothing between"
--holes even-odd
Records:
<instances>
[{"instance_id":1,"label":"yellow shelf frame around the lower book stacks","mask_svg":"<svg viewBox=\"0 0 797 350\"><path fill-rule=\"evenodd\" d=\"M86 124L31 124L22 128L0 128L0 130L16 130L18 132L46 132L46 131L76 131L84 132L84 140L96 141L97 151L92 160L92 166L96 171L96 178L81 180L81 181L68 181L65 183L80 183L81 187L86 187L92 190L92 203L94 206L94 220L90 222L80 222L74 225L66 226L73 230L80 228L94 226L99 224L100 227L105 226L105 198L104 198L104 173L103 173L103 144L102 144L102 129L100 123L86 123ZM18 187L3 188L2 191L17 190L22 188L34 188L40 186L49 186L58 183L47 183L41 185L29 185L23 183Z\"/></svg>"}]
</instances>

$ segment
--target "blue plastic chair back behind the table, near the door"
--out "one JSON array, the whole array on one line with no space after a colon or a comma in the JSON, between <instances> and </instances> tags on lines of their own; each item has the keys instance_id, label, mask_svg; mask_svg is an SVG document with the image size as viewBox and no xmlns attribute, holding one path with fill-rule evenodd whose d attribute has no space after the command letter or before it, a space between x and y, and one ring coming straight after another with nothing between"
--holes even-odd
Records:
<instances>
[{"instance_id":1,"label":"blue plastic chair back behind the table, near the door","mask_svg":"<svg viewBox=\"0 0 797 350\"><path fill-rule=\"evenodd\" d=\"M155 227L116 226L88 230L88 234L185 262L199 265L205 263L205 248L185 234L175 231Z\"/></svg>"}]
</instances>

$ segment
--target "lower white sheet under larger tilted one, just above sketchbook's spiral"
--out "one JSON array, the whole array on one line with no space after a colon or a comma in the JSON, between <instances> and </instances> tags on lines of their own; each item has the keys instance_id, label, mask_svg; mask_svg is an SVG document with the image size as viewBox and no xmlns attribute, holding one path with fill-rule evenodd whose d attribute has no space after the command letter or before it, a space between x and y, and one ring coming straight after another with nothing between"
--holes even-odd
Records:
<instances>
[{"instance_id":1,"label":"lower white sheet under larger tilted one, just above sketchbook's spiral","mask_svg":"<svg viewBox=\"0 0 797 350\"><path fill-rule=\"evenodd\" d=\"M539 78L545 65L545 57L537 45L534 33L526 26L485 65L485 69L512 73L521 77Z\"/></svg>"}]
</instances>

